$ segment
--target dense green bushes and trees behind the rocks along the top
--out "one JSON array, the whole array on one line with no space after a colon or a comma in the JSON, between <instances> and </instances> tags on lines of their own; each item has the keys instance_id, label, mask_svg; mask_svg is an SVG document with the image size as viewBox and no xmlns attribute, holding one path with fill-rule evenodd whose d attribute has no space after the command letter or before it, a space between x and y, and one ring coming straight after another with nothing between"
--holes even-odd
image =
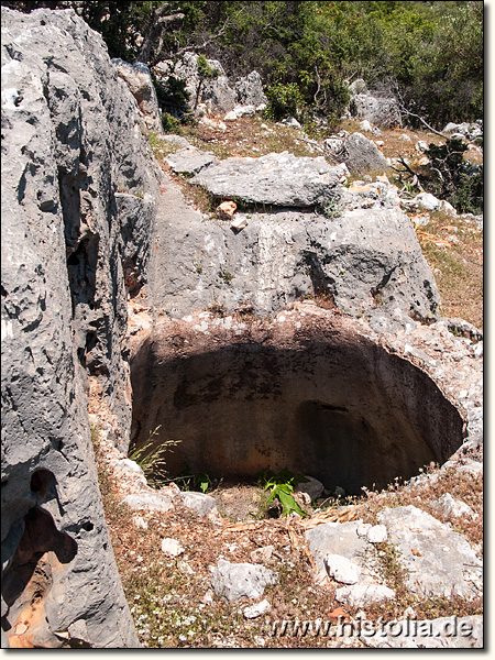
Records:
<instances>
[{"instance_id":1,"label":"dense green bushes and trees behind the rocks along the top","mask_svg":"<svg viewBox=\"0 0 495 660\"><path fill-rule=\"evenodd\" d=\"M194 51L232 77L256 69L274 118L338 118L346 82L399 95L437 128L483 117L481 1L9 2L21 11L74 8L128 62Z\"/></svg>"}]
</instances>

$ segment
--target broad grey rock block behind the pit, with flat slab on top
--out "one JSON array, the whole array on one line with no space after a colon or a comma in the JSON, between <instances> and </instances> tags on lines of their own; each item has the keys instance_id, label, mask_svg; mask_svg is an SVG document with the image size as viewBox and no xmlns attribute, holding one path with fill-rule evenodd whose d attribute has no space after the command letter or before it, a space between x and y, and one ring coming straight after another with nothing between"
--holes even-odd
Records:
<instances>
[{"instance_id":1,"label":"broad grey rock block behind the pit, with flat slab on top","mask_svg":"<svg viewBox=\"0 0 495 660\"><path fill-rule=\"evenodd\" d=\"M177 187L168 186L153 256L156 308L180 318L213 302L229 311L249 302L256 316L267 316L319 293L353 315L398 306L424 318L436 316L435 279L409 219L385 184L346 189L337 185L339 167L324 164L320 174L320 158L271 156L232 158L237 170L229 170L226 161L212 164L193 179L223 194L220 199L283 205L270 212L238 211L234 217L246 223L242 231L204 218ZM195 155L194 163L199 162ZM312 185L290 186L290 172L295 176L299 167L300 180ZM331 217L315 211L324 199ZM310 206L294 208L302 204Z\"/></svg>"}]
</instances>

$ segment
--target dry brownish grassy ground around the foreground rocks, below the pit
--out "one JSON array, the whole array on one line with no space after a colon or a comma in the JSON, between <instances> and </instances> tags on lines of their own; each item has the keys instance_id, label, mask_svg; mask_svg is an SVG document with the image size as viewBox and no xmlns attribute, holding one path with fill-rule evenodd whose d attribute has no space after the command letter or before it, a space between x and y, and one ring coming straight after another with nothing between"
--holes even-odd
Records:
<instances>
[{"instance_id":1,"label":"dry brownish grassy ground around the foreground rocks, below the pit","mask_svg":"<svg viewBox=\"0 0 495 660\"><path fill-rule=\"evenodd\" d=\"M139 639L145 648L363 647L358 637L344 642L341 638L311 634L283 637L272 634L273 623L277 620L328 622L337 618L336 613L348 619L358 614L355 608L343 609L337 602L338 584L327 580L317 585L314 581L315 564L307 549L305 531L317 522L356 518L376 522L376 515L384 507L408 504L432 513L430 501L451 493L480 514L476 520L455 520L454 529L472 543L482 542L483 482L469 475L461 477L454 470L431 469L430 472L438 475L437 481L424 480L414 486L402 486L397 481L385 492L366 493L350 506L336 506L314 518L254 519L232 524L226 519L198 517L183 507L166 513L131 512L121 504L124 494L117 490L116 482L106 472L105 452L96 430L94 442L118 568ZM248 486L239 486L238 491L239 501L232 510L240 513L242 509L245 514L246 498L252 501L253 493L260 496L261 493ZM136 515L146 521L147 529L135 526L133 518ZM436 517L439 518L438 512ZM178 558L165 556L161 543L166 537L180 541L185 552ZM217 565L220 558L252 562L251 552L266 546L272 546L273 551L264 564L279 575L277 583L266 588L263 596L272 609L260 618L246 619L243 609L252 602L228 603L216 597L210 587L210 566ZM468 616L482 612L481 598L469 601L452 596L416 601L405 585L405 573L394 547L382 543L376 550L382 579L396 590L397 597L366 608L366 618L389 620L403 616L410 606L418 618Z\"/></svg>"}]
</instances>

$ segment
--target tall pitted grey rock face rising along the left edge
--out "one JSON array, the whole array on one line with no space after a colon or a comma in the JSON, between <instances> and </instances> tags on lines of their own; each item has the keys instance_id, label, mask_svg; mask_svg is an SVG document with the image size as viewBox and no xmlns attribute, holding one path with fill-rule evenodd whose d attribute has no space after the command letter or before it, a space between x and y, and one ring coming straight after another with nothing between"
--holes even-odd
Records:
<instances>
[{"instance_id":1,"label":"tall pitted grey rock face rising along the left edge","mask_svg":"<svg viewBox=\"0 0 495 660\"><path fill-rule=\"evenodd\" d=\"M135 100L72 11L2 8L2 628L16 647L134 647L88 388L124 442L124 275L158 183Z\"/></svg>"}]
</instances>

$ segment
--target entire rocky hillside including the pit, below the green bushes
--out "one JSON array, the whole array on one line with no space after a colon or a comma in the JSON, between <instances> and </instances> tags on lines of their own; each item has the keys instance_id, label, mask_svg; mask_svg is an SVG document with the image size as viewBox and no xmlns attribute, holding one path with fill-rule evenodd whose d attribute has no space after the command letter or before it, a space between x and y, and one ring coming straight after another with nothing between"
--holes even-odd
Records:
<instances>
[{"instance_id":1,"label":"entire rocky hillside including the pit, below the green bushes","mask_svg":"<svg viewBox=\"0 0 495 660\"><path fill-rule=\"evenodd\" d=\"M400 185L426 134L234 88L166 135L144 65L2 9L2 644L482 646L480 218Z\"/></svg>"}]
</instances>

